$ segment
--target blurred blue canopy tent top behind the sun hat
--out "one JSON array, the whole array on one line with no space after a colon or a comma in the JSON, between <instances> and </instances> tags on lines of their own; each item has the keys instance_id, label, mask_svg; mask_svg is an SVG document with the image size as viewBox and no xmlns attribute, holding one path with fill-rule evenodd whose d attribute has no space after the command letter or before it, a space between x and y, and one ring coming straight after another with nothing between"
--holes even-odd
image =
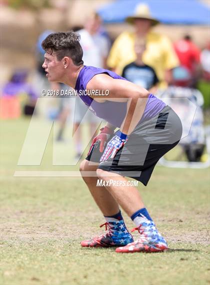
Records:
<instances>
[{"instance_id":1,"label":"blurred blue canopy tent top behind the sun hat","mask_svg":"<svg viewBox=\"0 0 210 285\"><path fill-rule=\"evenodd\" d=\"M209 25L210 10L197 0L116 0L97 12L104 23L122 23L133 15L136 5L147 4L151 15L163 24Z\"/></svg>"}]
</instances>

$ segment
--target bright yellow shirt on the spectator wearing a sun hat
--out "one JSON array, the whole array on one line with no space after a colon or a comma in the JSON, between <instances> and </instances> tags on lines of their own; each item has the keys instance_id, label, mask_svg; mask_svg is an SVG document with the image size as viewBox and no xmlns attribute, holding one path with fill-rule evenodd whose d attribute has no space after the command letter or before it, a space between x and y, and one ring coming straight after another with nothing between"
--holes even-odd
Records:
<instances>
[{"instance_id":1,"label":"bright yellow shirt on the spectator wearing a sun hat","mask_svg":"<svg viewBox=\"0 0 210 285\"><path fill-rule=\"evenodd\" d=\"M107 65L121 75L125 65L136 59L134 52L135 34L123 32L113 43L110 50ZM146 35L146 50L143 53L142 61L151 66L160 81L159 87L165 88L165 70L178 66L178 58L173 50L170 40L162 35L149 32Z\"/></svg>"}]
</instances>

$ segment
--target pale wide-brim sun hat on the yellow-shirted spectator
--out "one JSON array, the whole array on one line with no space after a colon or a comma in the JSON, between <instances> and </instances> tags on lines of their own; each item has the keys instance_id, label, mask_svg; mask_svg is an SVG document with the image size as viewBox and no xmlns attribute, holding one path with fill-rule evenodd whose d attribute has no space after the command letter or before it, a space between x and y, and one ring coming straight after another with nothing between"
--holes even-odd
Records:
<instances>
[{"instance_id":1,"label":"pale wide-brim sun hat on the yellow-shirted spectator","mask_svg":"<svg viewBox=\"0 0 210 285\"><path fill-rule=\"evenodd\" d=\"M151 21L151 26L159 24L159 21L151 16L149 8L146 4L138 4L135 8L134 14L125 19L129 24L133 24L135 19L146 19Z\"/></svg>"}]
</instances>

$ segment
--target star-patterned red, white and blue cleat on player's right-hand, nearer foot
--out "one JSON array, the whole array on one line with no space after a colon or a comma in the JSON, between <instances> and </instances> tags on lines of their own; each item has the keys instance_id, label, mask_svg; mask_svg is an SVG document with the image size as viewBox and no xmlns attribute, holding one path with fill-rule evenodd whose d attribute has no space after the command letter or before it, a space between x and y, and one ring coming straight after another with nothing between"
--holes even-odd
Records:
<instances>
[{"instance_id":1,"label":"star-patterned red, white and blue cleat on player's right-hand, nearer foot","mask_svg":"<svg viewBox=\"0 0 210 285\"><path fill-rule=\"evenodd\" d=\"M154 223L147 220L131 231L138 230L140 238L125 246L116 248L116 252L158 252L168 249L165 239L158 233Z\"/></svg>"}]
</instances>

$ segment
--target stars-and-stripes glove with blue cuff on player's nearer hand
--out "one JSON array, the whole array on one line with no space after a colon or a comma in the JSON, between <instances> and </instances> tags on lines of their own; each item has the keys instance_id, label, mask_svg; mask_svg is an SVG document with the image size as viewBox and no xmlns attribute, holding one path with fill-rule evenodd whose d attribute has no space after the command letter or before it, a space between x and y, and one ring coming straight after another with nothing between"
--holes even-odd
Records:
<instances>
[{"instance_id":1,"label":"stars-and-stripes glove with blue cuff on player's nearer hand","mask_svg":"<svg viewBox=\"0 0 210 285\"><path fill-rule=\"evenodd\" d=\"M106 161L108 158L114 158L117 151L123 147L123 145L128 140L128 135L117 131L112 139L107 143L106 148L100 158L101 161Z\"/></svg>"}]
</instances>

